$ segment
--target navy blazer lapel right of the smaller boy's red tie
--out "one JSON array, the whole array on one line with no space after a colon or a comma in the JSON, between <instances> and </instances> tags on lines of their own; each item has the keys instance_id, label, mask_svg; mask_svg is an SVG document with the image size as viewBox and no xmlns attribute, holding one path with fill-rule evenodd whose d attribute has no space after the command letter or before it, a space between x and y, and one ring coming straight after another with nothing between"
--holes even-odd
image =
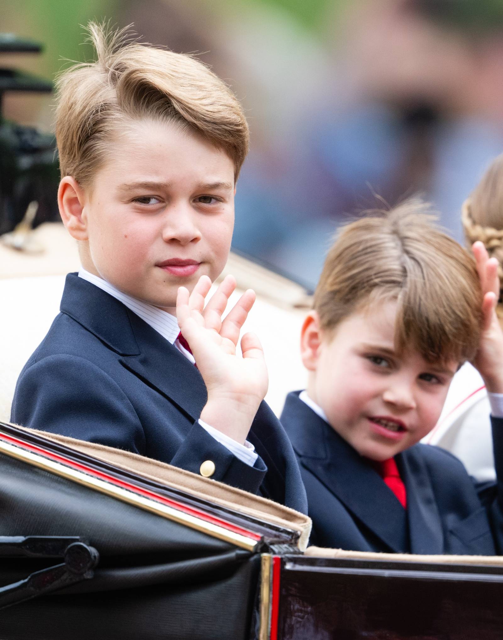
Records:
<instances>
[{"instance_id":1,"label":"navy blazer lapel right of the smaller boy's red tie","mask_svg":"<svg viewBox=\"0 0 503 640\"><path fill-rule=\"evenodd\" d=\"M428 470L421 456L421 445L403 451L396 460L407 492L410 551L413 554L442 554L442 521Z\"/></svg>"}]
</instances>

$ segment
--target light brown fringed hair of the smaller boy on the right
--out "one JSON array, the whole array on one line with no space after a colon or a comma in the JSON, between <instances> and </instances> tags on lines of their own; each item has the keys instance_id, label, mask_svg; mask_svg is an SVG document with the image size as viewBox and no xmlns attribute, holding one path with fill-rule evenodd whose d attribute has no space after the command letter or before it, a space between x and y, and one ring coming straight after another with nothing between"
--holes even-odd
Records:
<instances>
[{"instance_id":1,"label":"light brown fringed hair of the smaller boy on the right","mask_svg":"<svg viewBox=\"0 0 503 640\"><path fill-rule=\"evenodd\" d=\"M345 225L327 255L314 309L330 332L362 308L396 300L395 348L428 362L470 360L481 331L482 292L475 260L411 198Z\"/></svg>"}]
</instances>

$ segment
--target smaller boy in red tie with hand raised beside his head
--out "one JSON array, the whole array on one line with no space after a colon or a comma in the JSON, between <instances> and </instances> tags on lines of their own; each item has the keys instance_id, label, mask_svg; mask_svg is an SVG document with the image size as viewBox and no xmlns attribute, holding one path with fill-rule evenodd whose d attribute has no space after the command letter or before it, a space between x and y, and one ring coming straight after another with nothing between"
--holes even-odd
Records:
<instances>
[{"instance_id":1,"label":"smaller boy in red tie with hand raised beside his head","mask_svg":"<svg viewBox=\"0 0 503 640\"><path fill-rule=\"evenodd\" d=\"M503 335L497 260L476 262L412 200L345 227L302 327L307 390L289 394L291 438L324 547L415 554L503 552L503 493L448 452L417 444L473 358L491 399L503 478ZM478 271L478 273L477 273Z\"/></svg>"}]
</instances>

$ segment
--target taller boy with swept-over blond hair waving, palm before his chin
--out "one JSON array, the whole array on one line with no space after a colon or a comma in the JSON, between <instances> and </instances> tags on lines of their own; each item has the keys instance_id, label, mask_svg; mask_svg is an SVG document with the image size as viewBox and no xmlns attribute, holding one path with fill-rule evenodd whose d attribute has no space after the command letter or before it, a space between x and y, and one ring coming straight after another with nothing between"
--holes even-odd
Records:
<instances>
[{"instance_id":1,"label":"taller boy with swept-over blond hair waving, palm before his chin","mask_svg":"<svg viewBox=\"0 0 503 640\"><path fill-rule=\"evenodd\" d=\"M89 30L97 60L63 73L56 111L59 211L82 269L20 374L12 420L305 511L290 442L263 403L258 339L245 334L236 355L254 294L222 319L228 276L204 306L231 244L242 108L196 59Z\"/></svg>"}]
</instances>

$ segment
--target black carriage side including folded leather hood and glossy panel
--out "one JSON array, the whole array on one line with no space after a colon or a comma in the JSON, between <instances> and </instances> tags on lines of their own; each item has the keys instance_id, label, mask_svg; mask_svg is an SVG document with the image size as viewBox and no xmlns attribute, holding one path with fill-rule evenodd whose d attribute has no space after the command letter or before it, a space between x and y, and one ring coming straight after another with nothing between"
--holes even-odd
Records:
<instances>
[{"instance_id":1,"label":"black carriage side including folded leather hood and glossy panel","mask_svg":"<svg viewBox=\"0 0 503 640\"><path fill-rule=\"evenodd\" d=\"M308 548L309 518L0 424L0 640L497 640L503 562Z\"/></svg>"}]
</instances>

